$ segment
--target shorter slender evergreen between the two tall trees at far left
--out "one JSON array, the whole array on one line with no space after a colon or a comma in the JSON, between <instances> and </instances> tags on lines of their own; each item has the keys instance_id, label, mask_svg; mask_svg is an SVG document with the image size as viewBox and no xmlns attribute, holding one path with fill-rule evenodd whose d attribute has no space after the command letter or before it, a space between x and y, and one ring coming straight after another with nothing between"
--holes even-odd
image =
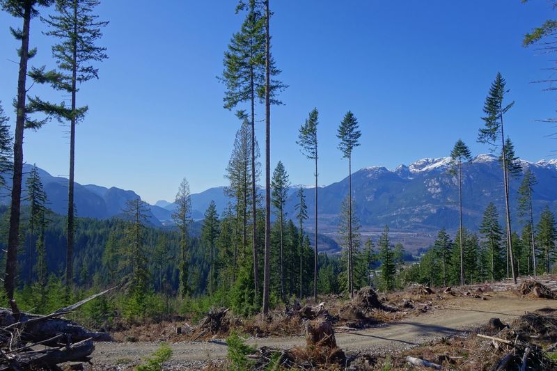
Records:
<instances>
[{"instance_id":1,"label":"shorter slender evergreen between the two tall trees at far left","mask_svg":"<svg viewBox=\"0 0 557 371\"><path fill-rule=\"evenodd\" d=\"M36 241L36 229L42 228L42 224L45 223L45 212L47 210L47 194L42 188L42 182L40 181L40 176L38 174L37 166L33 165L31 169L31 174L26 180L27 197L26 201L29 202L29 254L27 255L29 265L29 284L33 283L33 250L36 249L34 244ZM39 240L40 240L39 236Z\"/></svg>"}]
</instances>

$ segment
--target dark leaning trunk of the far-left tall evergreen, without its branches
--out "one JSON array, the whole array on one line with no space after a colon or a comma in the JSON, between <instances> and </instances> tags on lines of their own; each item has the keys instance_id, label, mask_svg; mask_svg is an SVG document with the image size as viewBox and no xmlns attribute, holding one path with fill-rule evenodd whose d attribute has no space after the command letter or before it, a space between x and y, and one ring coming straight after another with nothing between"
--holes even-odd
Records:
<instances>
[{"instance_id":1,"label":"dark leaning trunk of the far-left tall evergreen, without its branches","mask_svg":"<svg viewBox=\"0 0 557 371\"><path fill-rule=\"evenodd\" d=\"M19 74L17 78L17 117L13 143L12 202L10 205L10 230L6 255L4 289L8 299L13 299L15 275L17 274L17 249L19 248L19 217L22 198L23 130L25 125L25 99L27 61L29 59L29 30L31 26L31 1L26 1L23 14L22 47L19 51Z\"/></svg>"}]
</instances>

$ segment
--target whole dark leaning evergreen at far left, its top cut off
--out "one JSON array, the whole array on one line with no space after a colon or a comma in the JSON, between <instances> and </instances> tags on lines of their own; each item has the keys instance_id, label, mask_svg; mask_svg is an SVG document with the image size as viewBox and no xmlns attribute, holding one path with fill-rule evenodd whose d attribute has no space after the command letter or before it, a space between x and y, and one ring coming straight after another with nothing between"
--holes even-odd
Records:
<instances>
[{"instance_id":1,"label":"whole dark leaning evergreen at far left, its top cut off","mask_svg":"<svg viewBox=\"0 0 557 371\"><path fill-rule=\"evenodd\" d=\"M38 129L44 120L32 120L29 113L33 113L32 106L26 104L27 75L29 59L36 55L37 49L29 49L29 34L31 19L37 17L39 8L50 6L54 0L0 0L2 10L23 21L22 29L10 31L22 46L17 50L19 55L19 72L17 74L17 97L15 103L15 135L13 143L13 174L12 195L10 203L10 229L8 231L8 251L6 254L6 274L4 275L4 290L8 299L13 299L15 276L17 274L17 250L19 249L19 218L21 213L22 175L23 175L23 131L25 127ZM33 76L31 76L33 77Z\"/></svg>"}]
</instances>

